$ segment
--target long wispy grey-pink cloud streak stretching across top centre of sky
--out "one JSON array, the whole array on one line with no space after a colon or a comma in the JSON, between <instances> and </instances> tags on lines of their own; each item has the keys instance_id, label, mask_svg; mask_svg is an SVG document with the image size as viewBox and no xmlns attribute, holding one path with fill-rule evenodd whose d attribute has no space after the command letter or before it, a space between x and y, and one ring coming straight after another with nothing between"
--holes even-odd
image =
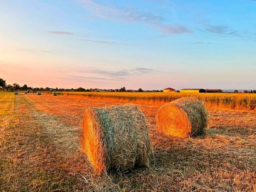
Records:
<instances>
[{"instance_id":1,"label":"long wispy grey-pink cloud streak stretching across top centre of sky","mask_svg":"<svg viewBox=\"0 0 256 192\"><path fill-rule=\"evenodd\" d=\"M162 24L164 18L161 16L152 15L150 13L141 13L134 10L123 10L116 7L104 6L92 0L83 0L83 2L86 3L86 9L92 12L95 16L104 20L121 22L143 22L168 34L193 32L192 30L189 30L182 25L164 25Z\"/></svg>"}]
</instances>

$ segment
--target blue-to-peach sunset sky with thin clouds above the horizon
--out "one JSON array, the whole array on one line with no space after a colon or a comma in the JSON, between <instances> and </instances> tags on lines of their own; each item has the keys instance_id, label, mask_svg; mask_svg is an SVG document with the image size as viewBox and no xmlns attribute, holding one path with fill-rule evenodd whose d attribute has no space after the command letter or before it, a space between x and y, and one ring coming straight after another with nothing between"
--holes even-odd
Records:
<instances>
[{"instance_id":1,"label":"blue-to-peach sunset sky with thin clouds above the horizon","mask_svg":"<svg viewBox=\"0 0 256 192\"><path fill-rule=\"evenodd\" d=\"M254 0L0 0L0 78L58 88L256 89Z\"/></svg>"}]
</instances>

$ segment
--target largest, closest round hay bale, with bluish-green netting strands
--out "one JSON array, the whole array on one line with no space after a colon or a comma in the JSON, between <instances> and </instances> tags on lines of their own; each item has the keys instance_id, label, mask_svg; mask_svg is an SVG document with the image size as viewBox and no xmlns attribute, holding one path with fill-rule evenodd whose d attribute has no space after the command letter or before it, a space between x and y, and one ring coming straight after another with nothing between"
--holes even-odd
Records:
<instances>
[{"instance_id":1,"label":"largest, closest round hay bale, with bluish-green netting strands","mask_svg":"<svg viewBox=\"0 0 256 192\"><path fill-rule=\"evenodd\" d=\"M149 167L154 154L148 128L142 111L131 104L87 109L82 150L97 174Z\"/></svg>"}]
</instances>

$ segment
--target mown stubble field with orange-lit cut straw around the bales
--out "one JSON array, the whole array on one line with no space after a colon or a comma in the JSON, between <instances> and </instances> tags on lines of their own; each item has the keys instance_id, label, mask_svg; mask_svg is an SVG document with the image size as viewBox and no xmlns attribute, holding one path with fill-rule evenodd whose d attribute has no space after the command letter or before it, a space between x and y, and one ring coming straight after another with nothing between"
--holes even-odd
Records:
<instances>
[{"instance_id":1,"label":"mown stubble field with orange-lit cut straw around the bales","mask_svg":"<svg viewBox=\"0 0 256 192\"><path fill-rule=\"evenodd\" d=\"M0 101L4 97L0 94ZM1 190L256 190L255 112L208 108L211 117L206 136L179 139L156 132L160 104L138 104L152 125L156 164L124 175L96 177L79 150L76 128L81 126L85 108L126 101L44 93L10 97L8 116L15 116L16 122L6 126L6 142L0 145ZM65 145L67 138L75 143L70 148Z\"/></svg>"}]
</instances>

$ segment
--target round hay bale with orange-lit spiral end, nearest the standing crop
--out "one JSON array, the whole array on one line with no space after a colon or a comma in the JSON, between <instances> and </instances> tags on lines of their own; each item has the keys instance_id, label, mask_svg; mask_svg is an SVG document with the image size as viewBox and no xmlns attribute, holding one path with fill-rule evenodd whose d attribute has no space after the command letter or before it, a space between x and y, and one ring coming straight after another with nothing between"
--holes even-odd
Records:
<instances>
[{"instance_id":1,"label":"round hay bale with orange-lit spiral end, nearest the standing crop","mask_svg":"<svg viewBox=\"0 0 256 192\"><path fill-rule=\"evenodd\" d=\"M162 106L156 114L156 129L167 135L184 138L204 134L208 112L196 98L180 98Z\"/></svg>"}]
</instances>

